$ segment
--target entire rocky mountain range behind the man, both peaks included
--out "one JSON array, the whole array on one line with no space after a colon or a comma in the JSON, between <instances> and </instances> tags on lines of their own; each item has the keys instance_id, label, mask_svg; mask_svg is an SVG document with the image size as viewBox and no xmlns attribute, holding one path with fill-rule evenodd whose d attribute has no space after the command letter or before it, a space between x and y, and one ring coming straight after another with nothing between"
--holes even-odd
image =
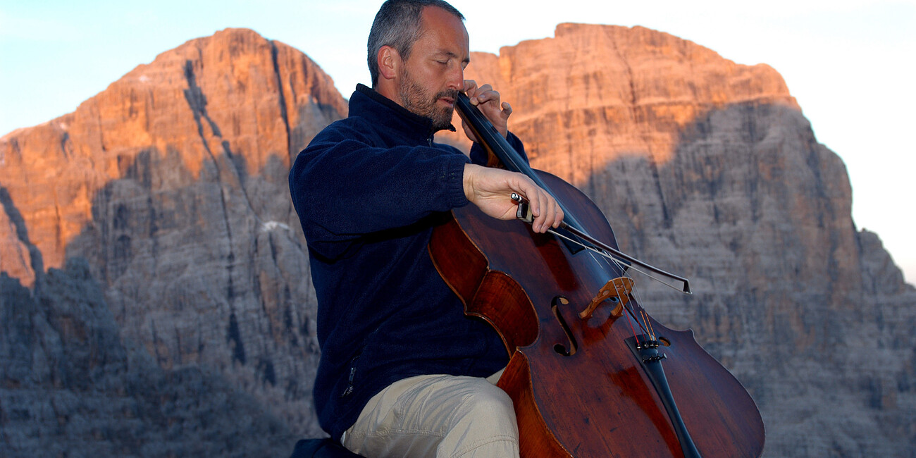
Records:
<instances>
[{"instance_id":1,"label":"entire rocky mountain range behind the man, both peaks included","mask_svg":"<svg viewBox=\"0 0 916 458\"><path fill-rule=\"evenodd\" d=\"M625 251L692 279L685 297L637 278L641 302L745 384L767 455L916 448L916 291L856 232L845 167L776 71L564 24L468 78ZM0 138L0 454L274 456L320 434L286 175L345 114L299 51L225 30Z\"/></svg>"}]
</instances>

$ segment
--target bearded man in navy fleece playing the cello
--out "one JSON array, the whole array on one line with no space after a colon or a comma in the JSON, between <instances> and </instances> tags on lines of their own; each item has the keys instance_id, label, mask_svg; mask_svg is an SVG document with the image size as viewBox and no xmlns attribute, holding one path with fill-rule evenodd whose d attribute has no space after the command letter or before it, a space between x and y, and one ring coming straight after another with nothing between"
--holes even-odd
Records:
<instances>
[{"instance_id":1,"label":"bearded man in navy fleece playing the cello","mask_svg":"<svg viewBox=\"0 0 916 458\"><path fill-rule=\"evenodd\" d=\"M507 131L511 107L489 85L463 80L469 61L452 5L387 1L368 40L373 88L357 86L347 119L315 136L289 173L319 301L315 408L355 453L518 456L511 400L495 387L507 349L489 324L463 314L427 245L435 216L468 203L511 219L517 192L541 233L562 211L527 177L476 165L485 163L480 146L469 161L433 143L453 129L465 91L523 151Z\"/></svg>"}]
</instances>

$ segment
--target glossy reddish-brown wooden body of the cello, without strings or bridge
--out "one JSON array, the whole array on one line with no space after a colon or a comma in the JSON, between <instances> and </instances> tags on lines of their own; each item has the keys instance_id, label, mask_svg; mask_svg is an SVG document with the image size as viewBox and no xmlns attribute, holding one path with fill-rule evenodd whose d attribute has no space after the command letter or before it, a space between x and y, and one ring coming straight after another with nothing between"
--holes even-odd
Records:
<instances>
[{"instance_id":1,"label":"glossy reddish-brown wooden body of the cello, without strings or bridge","mask_svg":"<svg viewBox=\"0 0 916 458\"><path fill-rule=\"evenodd\" d=\"M562 202L587 202L576 216L594 237L614 240L604 215L573 186L541 172ZM616 245L616 244L615 244ZM522 456L682 456L658 395L624 339L624 318L610 319L605 303L588 319L578 311L607 280L621 272L594 262L588 252L571 254L549 234L533 234L518 221L503 222L468 205L453 212L433 234L436 267L465 303L503 336L511 362L500 387L515 402ZM636 288L639 286L637 285ZM561 313L578 344L569 340L551 311ZM625 313L626 314L626 313ZM672 331L652 320L671 392L704 457L755 457L764 429L747 390L696 344L691 331Z\"/></svg>"}]
</instances>

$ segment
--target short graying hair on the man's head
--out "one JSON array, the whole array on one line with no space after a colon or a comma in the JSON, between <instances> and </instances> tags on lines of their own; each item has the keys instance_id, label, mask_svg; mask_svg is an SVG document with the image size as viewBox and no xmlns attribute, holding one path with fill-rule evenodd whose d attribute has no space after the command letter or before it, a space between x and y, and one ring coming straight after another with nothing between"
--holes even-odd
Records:
<instances>
[{"instance_id":1,"label":"short graying hair on the man's head","mask_svg":"<svg viewBox=\"0 0 916 458\"><path fill-rule=\"evenodd\" d=\"M464 16L444 0L387 0L376 13L366 47L372 87L376 87L378 82L378 49L390 46L398 51L401 59L407 60L413 44L423 33L420 27L420 14L426 6L440 7L464 20Z\"/></svg>"}]
</instances>

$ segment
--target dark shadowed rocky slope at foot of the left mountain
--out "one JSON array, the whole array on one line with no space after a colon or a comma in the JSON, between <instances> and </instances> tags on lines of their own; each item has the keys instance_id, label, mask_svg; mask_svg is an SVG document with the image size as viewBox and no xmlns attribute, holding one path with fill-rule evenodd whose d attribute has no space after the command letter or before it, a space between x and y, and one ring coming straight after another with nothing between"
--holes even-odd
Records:
<instances>
[{"instance_id":1,"label":"dark shadowed rocky slope at foot of the left mountain","mask_svg":"<svg viewBox=\"0 0 916 458\"><path fill-rule=\"evenodd\" d=\"M30 291L0 274L5 457L285 456L297 436L202 366L125 345L84 259Z\"/></svg>"}]
</instances>

